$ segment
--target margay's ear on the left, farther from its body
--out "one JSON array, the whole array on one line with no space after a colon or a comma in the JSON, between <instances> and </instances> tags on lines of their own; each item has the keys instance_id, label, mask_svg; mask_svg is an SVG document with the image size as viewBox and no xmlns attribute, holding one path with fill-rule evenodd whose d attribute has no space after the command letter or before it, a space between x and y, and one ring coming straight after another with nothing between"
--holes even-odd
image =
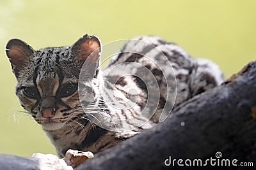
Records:
<instances>
[{"instance_id":1,"label":"margay's ear on the left, farther from its body","mask_svg":"<svg viewBox=\"0 0 256 170\"><path fill-rule=\"evenodd\" d=\"M33 48L24 41L11 39L6 45L6 55L12 64L13 72L20 69L34 52Z\"/></svg>"}]
</instances>

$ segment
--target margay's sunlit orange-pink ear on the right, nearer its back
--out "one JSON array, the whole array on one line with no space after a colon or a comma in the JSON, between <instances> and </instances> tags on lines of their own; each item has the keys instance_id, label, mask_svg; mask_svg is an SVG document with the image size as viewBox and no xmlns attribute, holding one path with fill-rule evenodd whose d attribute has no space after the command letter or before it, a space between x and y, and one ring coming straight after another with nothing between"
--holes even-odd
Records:
<instances>
[{"instance_id":1,"label":"margay's sunlit orange-pink ear on the right, nearer its back","mask_svg":"<svg viewBox=\"0 0 256 170\"><path fill-rule=\"evenodd\" d=\"M71 47L74 56L84 62L90 56L90 62L99 62L101 43L97 36L88 36L78 39Z\"/></svg>"}]
</instances>

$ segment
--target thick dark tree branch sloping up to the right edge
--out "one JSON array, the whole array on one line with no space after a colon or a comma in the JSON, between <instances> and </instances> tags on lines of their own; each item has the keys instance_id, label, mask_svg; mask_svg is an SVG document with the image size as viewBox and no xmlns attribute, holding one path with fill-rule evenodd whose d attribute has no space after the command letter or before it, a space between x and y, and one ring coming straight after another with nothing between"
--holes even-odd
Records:
<instances>
[{"instance_id":1,"label":"thick dark tree branch sloping up to the right edge","mask_svg":"<svg viewBox=\"0 0 256 170\"><path fill-rule=\"evenodd\" d=\"M255 118L256 62L251 62L220 87L175 108L162 124L95 155L77 170L164 169L170 155L173 159L216 159L216 152L223 154L221 159L256 166Z\"/></svg>"}]
</instances>

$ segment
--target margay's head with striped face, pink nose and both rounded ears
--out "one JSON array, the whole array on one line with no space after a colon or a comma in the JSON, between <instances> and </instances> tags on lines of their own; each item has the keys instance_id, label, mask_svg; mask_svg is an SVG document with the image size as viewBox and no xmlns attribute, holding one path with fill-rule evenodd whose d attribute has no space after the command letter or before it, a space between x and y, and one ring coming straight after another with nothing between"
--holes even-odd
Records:
<instances>
[{"instance_id":1,"label":"margay's head with striped face, pink nose and both rounded ears","mask_svg":"<svg viewBox=\"0 0 256 170\"><path fill-rule=\"evenodd\" d=\"M77 90L81 67L91 54L90 62L99 66L100 52L99 39L87 34L72 46L40 50L20 39L11 39L6 54L17 78L16 94L21 106L45 130L63 127L76 117L72 113L77 108L81 110Z\"/></svg>"}]
</instances>

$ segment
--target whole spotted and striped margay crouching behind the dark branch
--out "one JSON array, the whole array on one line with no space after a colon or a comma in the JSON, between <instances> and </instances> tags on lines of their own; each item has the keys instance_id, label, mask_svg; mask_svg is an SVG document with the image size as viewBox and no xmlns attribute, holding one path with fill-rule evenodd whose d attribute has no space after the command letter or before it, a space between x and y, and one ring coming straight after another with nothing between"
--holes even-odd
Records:
<instances>
[{"instance_id":1,"label":"whole spotted and striped margay crouching behind the dark branch","mask_svg":"<svg viewBox=\"0 0 256 170\"><path fill-rule=\"evenodd\" d=\"M169 113L173 105L177 106L223 81L218 66L209 60L191 58L174 43L154 36L135 39L139 41L129 41L104 71L100 69L101 45L96 36L86 34L72 46L40 50L33 50L20 39L8 42L6 54L17 78L16 94L20 104L42 125L60 157L70 148L97 153L114 146L157 124L160 114L163 111L165 114ZM95 51L93 58L88 59ZM168 62L164 61L163 56ZM88 78L88 82L80 84L79 75L81 76L81 70L84 71L85 61L94 64L95 70L86 72L85 69L83 75L92 76ZM160 92L159 102L149 121L147 114L150 111L140 114L145 107L151 107L146 106L149 94L145 83L134 75L122 76L116 71L111 72L122 63L122 69L138 75L140 67L134 69L131 63L141 64L156 78ZM168 64L173 67L172 70L167 67ZM147 79L147 75L141 76ZM167 104L166 84L170 84L173 94L169 96L170 103ZM78 87L83 87L85 94L81 101ZM131 87L138 93L131 94ZM118 102L113 97L108 98L108 94L115 94L117 101L134 99L134 102L123 102L124 106L116 109L115 104ZM168 104L171 107L164 108ZM95 121L99 121L100 125ZM108 127L120 131L111 131ZM125 129L131 131L124 131Z\"/></svg>"}]
</instances>

